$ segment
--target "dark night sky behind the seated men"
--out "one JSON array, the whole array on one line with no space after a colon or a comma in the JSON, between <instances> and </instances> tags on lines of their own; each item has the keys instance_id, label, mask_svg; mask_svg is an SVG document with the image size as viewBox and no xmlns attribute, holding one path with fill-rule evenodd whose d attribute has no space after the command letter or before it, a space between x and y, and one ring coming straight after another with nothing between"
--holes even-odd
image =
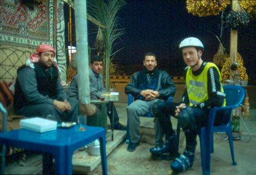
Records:
<instances>
[{"instance_id":1,"label":"dark night sky behind the seated men","mask_svg":"<svg viewBox=\"0 0 256 175\"><path fill-rule=\"evenodd\" d=\"M118 16L120 28L125 28L122 41L118 41L116 50L124 47L114 57L114 62L125 65L142 65L143 55L153 52L157 55L158 67L171 76L182 76L183 62L179 43L190 36L198 37L204 44L202 59L212 61L218 51L221 14L218 16L198 17L186 10L186 1L171 0L127 0ZM230 7L226 9L229 12ZM88 23L89 45L93 47L93 32L96 26ZM212 34L214 33L214 34ZM221 38L229 54L230 30L224 28ZM243 56L250 81L256 81L256 20L247 28L238 31L238 52ZM135 68L131 67L131 68ZM134 70L138 71L138 70Z\"/></svg>"}]
</instances>

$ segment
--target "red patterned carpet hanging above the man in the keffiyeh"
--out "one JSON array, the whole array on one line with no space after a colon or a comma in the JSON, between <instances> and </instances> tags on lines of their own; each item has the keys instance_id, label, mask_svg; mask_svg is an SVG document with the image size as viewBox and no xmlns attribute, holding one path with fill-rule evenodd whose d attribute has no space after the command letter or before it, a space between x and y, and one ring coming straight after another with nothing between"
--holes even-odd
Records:
<instances>
[{"instance_id":1,"label":"red patterned carpet hanging above the man in the keffiyeh","mask_svg":"<svg viewBox=\"0 0 256 175\"><path fill-rule=\"evenodd\" d=\"M0 11L0 41L18 47L53 46L53 0L34 6L34 10L24 3L1 0Z\"/></svg>"}]
</instances>

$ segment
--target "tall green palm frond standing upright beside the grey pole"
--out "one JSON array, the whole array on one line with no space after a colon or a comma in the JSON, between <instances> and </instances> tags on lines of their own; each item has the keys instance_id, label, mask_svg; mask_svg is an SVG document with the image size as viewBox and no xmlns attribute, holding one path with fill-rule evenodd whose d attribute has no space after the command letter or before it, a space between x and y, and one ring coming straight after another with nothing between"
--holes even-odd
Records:
<instances>
[{"instance_id":1,"label":"tall green palm frond standing upright beside the grey pole","mask_svg":"<svg viewBox=\"0 0 256 175\"><path fill-rule=\"evenodd\" d=\"M113 56L121 49L114 51L116 40L124 33L124 29L119 29L118 11L126 4L124 0L89 0L88 13L96 18L105 26L102 28L102 36L104 41L104 57L105 57L105 75L106 75L106 90L109 91L110 83L110 61ZM112 57L112 58L111 58Z\"/></svg>"}]
</instances>

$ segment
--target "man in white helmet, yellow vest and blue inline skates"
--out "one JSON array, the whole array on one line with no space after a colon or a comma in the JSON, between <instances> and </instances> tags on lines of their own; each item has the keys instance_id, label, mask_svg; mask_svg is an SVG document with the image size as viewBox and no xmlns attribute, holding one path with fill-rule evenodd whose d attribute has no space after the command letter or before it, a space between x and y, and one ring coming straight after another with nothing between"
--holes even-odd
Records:
<instances>
[{"instance_id":1,"label":"man in white helmet, yellow vest and blue inline skates","mask_svg":"<svg viewBox=\"0 0 256 175\"><path fill-rule=\"evenodd\" d=\"M169 138L175 137L169 115L178 119L180 126L184 130L186 147L184 153L170 164L175 171L184 171L191 167L195 160L195 150L197 145L197 134L200 127L208 123L208 113L212 106L224 106L225 94L221 84L221 74L218 67L211 62L205 62L201 56L203 53L203 43L194 37L189 37L181 41L179 48L187 67L185 91L180 103L157 102L152 111L159 119L162 129ZM215 124L226 123L228 116L219 114ZM171 140L171 139L169 139ZM165 146L158 149L154 154L170 152L176 155L175 143L168 140Z\"/></svg>"}]
</instances>

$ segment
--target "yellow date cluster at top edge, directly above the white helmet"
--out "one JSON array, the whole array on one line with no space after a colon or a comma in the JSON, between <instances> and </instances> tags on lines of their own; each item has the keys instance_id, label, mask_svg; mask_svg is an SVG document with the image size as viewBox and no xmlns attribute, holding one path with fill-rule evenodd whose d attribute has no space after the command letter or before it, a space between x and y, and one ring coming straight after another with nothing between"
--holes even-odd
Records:
<instances>
[{"instance_id":1,"label":"yellow date cluster at top edge, directly above the white helmet","mask_svg":"<svg viewBox=\"0 0 256 175\"><path fill-rule=\"evenodd\" d=\"M187 0L187 11L197 16L218 15L229 4L229 0Z\"/></svg>"}]
</instances>

